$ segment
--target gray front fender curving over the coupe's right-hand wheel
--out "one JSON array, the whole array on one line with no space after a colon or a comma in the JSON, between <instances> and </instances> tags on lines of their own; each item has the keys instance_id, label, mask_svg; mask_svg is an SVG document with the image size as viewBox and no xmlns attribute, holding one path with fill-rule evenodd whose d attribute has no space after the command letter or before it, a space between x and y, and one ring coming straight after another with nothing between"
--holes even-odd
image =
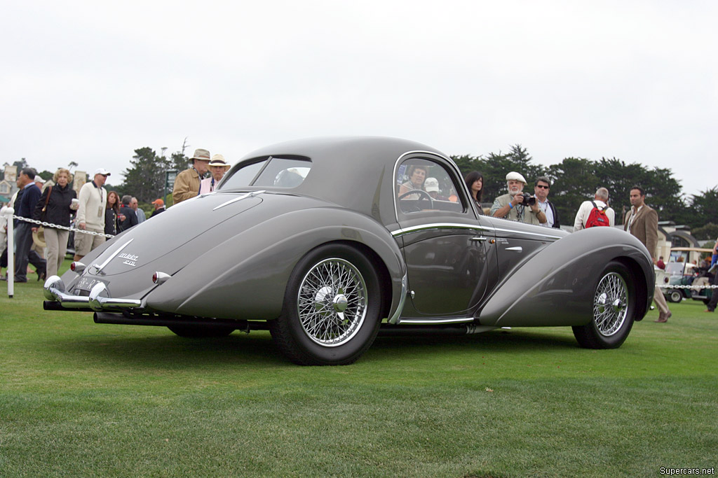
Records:
<instances>
[{"instance_id":1,"label":"gray front fender curving over the coupe's right-hand wheel","mask_svg":"<svg viewBox=\"0 0 718 478\"><path fill-rule=\"evenodd\" d=\"M584 229L536 252L506 277L477 313L482 325L585 325L593 317L600 274L612 260L633 274L636 320L653 300L653 263L630 234L612 228Z\"/></svg>"}]
</instances>

